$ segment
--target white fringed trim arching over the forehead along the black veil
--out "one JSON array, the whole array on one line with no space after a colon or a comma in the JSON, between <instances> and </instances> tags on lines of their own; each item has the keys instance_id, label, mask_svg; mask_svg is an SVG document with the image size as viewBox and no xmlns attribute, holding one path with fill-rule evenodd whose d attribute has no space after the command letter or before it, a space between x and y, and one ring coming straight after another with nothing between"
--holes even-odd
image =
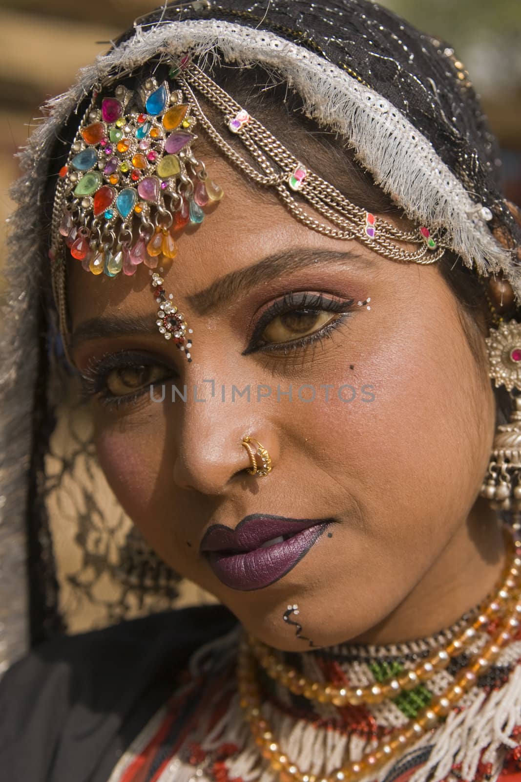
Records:
<instances>
[{"instance_id":1,"label":"white fringed trim arching over the forehead along the black veil","mask_svg":"<svg viewBox=\"0 0 521 782\"><path fill-rule=\"evenodd\" d=\"M376 184L412 221L444 229L446 243L466 266L475 265L478 274L502 270L521 301L514 251L494 239L487 225L493 218L490 208L471 199L427 138L399 109L341 67L269 30L214 19L170 21L150 30L137 27L133 38L99 56L80 71L70 91L49 102L51 115L35 131L23 163L34 169L38 159L45 159L48 145L93 84L103 83L115 71L134 70L152 57L178 57L187 51L276 70L302 96L309 117L348 140Z\"/></svg>"}]
</instances>

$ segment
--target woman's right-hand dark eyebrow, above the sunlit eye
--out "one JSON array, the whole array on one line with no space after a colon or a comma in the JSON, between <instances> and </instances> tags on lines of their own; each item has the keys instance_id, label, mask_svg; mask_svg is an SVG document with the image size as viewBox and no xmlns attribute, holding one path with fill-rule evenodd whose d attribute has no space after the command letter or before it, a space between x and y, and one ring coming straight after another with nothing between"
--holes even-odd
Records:
<instances>
[{"instance_id":1,"label":"woman's right-hand dark eyebrow, above the sunlit eye","mask_svg":"<svg viewBox=\"0 0 521 782\"><path fill-rule=\"evenodd\" d=\"M327 249L287 249L266 256L252 266L224 274L207 288L187 294L186 303L194 314L208 315L237 299L237 296L244 296L256 285L269 282L280 274L326 263L352 263L354 267L360 264L366 268L376 267L376 262L370 256L362 255L356 250L339 253Z\"/></svg>"}]
</instances>

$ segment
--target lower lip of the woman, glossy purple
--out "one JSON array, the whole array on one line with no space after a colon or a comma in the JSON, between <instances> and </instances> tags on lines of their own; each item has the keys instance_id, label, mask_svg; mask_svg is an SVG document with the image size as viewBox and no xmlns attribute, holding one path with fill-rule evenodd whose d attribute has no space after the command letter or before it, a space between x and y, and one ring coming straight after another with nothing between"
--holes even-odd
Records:
<instances>
[{"instance_id":1,"label":"lower lip of the woman, glossy purple","mask_svg":"<svg viewBox=\"0 0 521 782\"><path fill-rule=\"evenodd\" d=\"M319 522L302 529L281 543L239 554L219 554L209 551L209 565L219 581L237 590L269 587L286 575L308 553L330 522ZM274 536L275 537L275 536ZM269 540L269 539L267 539Z\"/></svg>"}]
</instances>

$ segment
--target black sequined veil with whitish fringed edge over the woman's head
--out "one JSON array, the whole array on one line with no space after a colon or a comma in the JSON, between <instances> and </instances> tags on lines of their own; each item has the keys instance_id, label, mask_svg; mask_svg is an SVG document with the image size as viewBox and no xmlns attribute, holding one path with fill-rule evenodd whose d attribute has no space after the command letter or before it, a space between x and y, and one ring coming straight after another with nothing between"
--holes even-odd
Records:
<instances>
[{"instance_id":1,"label":"black sequined veil with whitish fringed edge over the woman's head","mask_svg":"<svg viewBox=\"0 0 521 782\"><path fill-rule=\"evenodd\" d=\"M54 354L54 343L42 334L56 321L48 317L52 301L43 306L40 294L50 274L42 204L50 183L59 180L56 161L68 152L63 129L79 126L96 85L151 59L180 61L187 52L203 70L215 60L273 70L298 92L319 127L346 138L356 160L407 217L442 231L446 246L476 274L502 271L521 302L521 230L501 193L498 145L450 45L369 0L196 0L141 17L80 71L69 91L48 103L47 119L20 154L24 173L12 189L18 209L6 271L0 443L0 554L9 563L0 579L2 604L11 606L3 628L7 658L19 655L29 637L27 530L31 637L62 629L41 489L53 423Z\"/></svg>"}]
</instances>

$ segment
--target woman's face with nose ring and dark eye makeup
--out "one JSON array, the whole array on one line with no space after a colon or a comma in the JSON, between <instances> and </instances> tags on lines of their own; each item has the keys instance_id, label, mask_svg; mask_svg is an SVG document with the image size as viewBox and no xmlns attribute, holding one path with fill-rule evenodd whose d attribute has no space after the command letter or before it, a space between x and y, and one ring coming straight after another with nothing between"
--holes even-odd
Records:
<instances>
[{"instance_id":1,"label":"woman's face with nose ring and dark eye makeup","mask_svg":"<svg viewBox=\"0 0 521 782\"><path fill-rule=\"evenodd\" d=\"M146 267L95 277L70 260L73 358L81 372L90 367L112 489L173 569L275 647L384 640L393 616L409 616L415 637L421 622L436 624L451 584L454 600L442 603L455 620L469 608L456 587L476 568L466 521L494 432L493 393L461 307L437 264L330 239L274 196L255 195L223 160L208 163L224 199L180 235L162 274L193 329L191 363L157 330ZM173 401L173 386L184 394L185 384L186 401ZM269 451L266 477L247 472L246 434ZM301 533L298 555L279 543L263 550L263 565L229 553L230 569L216 571L200 551L205 533L252 515L317 526ZM489 565L495 575L497 561Z\"/></svg>"}]
</instances>

